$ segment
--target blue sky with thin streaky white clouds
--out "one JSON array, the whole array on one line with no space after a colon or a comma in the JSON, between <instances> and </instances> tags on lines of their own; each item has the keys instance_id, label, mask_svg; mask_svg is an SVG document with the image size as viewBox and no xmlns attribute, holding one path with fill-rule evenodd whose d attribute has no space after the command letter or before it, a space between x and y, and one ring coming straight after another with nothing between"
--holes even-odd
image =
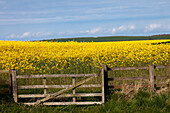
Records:
<instances>
[{"instance_id":1,"label":"blue sky with thin streaky white clouds","mask_svg":"<svg viewBox=\"0 0 170 113\"><path fill-rule=\"evenodd\" d=\"M0 0L0 40L170 33L170 0Z\"/></svg>"}]
</instances>

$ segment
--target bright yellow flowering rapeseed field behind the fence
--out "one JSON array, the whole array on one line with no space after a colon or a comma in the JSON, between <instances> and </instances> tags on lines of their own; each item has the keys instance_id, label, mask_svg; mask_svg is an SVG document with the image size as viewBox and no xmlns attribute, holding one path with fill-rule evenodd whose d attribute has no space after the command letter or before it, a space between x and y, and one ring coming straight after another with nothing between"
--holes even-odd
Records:
<instances>
[{"instance_id":1,"label":"bright yellow flowering rapeseed field behind the fence","mask_svg":"<svg viewBox=\"0 0 170 113\"><path fill-rule=\"evenodd\" d=\"M52 73L109 67L166 65L170 62L170 40L118 42L22 42L0 41L0 69L22 73ZM154 43L154 44L153 44ZM54 71L54 72L55 72ZM53 73L54 73L53 72Z\"/></svg>"}]
</instances>

